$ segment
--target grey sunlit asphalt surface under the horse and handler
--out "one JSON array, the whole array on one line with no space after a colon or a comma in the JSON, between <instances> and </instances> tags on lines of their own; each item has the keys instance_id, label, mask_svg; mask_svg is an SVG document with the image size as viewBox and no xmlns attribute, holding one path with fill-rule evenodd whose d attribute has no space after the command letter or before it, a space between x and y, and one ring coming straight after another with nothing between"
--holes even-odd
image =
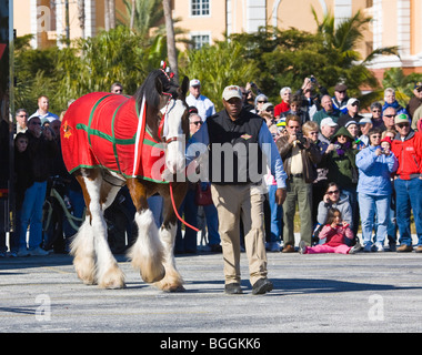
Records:
<instances>
[{"instance_id":1,"label":"grey sunlit asphalt surface under the horse and handler","mask_svg":"<svg viewBox=\"0 0 422 355\"><path fill-rule=\"evenodd\" d=\"M177 256L185 292L142 282L124 255L124 290L83 285L69 255L0 258L2 333L422 332L422 254L269 253L274 290L223 293L222 254ZM165 345L164 345L165 346Z\"/></svg>"}]
</instances>

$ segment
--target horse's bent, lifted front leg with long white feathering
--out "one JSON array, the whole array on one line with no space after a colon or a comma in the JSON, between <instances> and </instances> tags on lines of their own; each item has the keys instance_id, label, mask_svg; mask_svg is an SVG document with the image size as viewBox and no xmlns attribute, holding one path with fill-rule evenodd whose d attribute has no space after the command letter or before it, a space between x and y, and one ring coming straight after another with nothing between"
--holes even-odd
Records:
<instances>
[{"instance_id":1,"label":"horse's bent, lifted front leg with long white feathering","mask_svg":"<svg viewBox=\"0 0 422 355\"><path fill-rule=\"evenodd\" d=\"M134 221L138 225L138 239L129 250L128 256L132 266L140 270L144 282L157 282L165 274L163 245L158 235L154 216L148 209L147 187L137 179L129 179L127 185L137 207Z\"/></svg>"}]
</instances>

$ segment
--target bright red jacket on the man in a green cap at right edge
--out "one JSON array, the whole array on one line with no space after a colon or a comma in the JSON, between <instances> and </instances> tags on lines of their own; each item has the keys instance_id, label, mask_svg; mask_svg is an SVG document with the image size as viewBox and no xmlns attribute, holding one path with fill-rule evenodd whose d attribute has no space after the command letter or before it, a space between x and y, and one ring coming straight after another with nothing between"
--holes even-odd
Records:
<instances>
[{"instance_id":1,"label":"bright red jacket on the man in a green cap at right edge","mask_svg":"<svg viewBox=\"0 0 422 355\"><path fill-rule=\"evenodd\" d=\"M422 133L410 131L404 141L398 134L393 140L391 151L399 161L396 175L403 180L410 180L411 174L422 174Z\"/></svg>"}]
</instances>

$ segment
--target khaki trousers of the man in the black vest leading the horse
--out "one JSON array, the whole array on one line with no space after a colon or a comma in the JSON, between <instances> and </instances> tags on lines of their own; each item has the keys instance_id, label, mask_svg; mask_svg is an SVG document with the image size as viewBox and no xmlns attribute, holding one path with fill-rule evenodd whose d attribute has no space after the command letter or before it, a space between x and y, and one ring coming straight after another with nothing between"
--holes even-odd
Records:
<instances>
[{"instance_id":1,"label":"khaki trousers of the man in the black vest leading the horse","mask_svg":"<svg viewBox=\"0 0 422 355\"><path fill-rule=\"evenodd\" d=\"M250 282L267 277L263 201L253 185L211 185L219 215L219 232L224 260L225 284L240 283L240 217L244 225L244 246Z\"/></svg>"}]
</instances>

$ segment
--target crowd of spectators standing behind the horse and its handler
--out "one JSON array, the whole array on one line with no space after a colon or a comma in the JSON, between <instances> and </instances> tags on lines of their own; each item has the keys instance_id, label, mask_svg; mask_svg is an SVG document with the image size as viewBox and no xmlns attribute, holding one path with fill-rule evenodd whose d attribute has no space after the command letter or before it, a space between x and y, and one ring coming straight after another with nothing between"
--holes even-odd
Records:
<instances>
[{"instance_id":1,"label":"crowd of spectators standing behind the horse and its handler","mask_svg":"<svg viewBox=\"0 0 422 355\"><path fill-rule=\"evenodd\" d=\"M344 83L336 84L330 94L313 77L305 78L295 92L291 88L282 88L281 100L277 103L269 102L264 91L253 83L247 83L241 90L242 110L262 116L288 176L282 205L274 203L274 176L268 173L264 178L268 187L264 201L268 251L298 251L294 241L298 204L299 252L302 254L354 253L360 250L360 243L364 252L422 252L422 82L414 84L414 95L408 105L400 105L394 89L386 88L383 102L373 102L369 112L364 112L358 98L349 98ZM114 83L111 91L121 94L123 88ZM190 106L190 131L194 134L207 118L215 113L215 109L211 100L201 94L198 79L190 82L187 102ZM61 159L62 114L59 116L49 111L49 100L44 95L39 98L38 106L30 116L24 109L16 112L16 231L10 235L9 253L4 233L0 236L0 256L46 255L49 248L68 251L69 240L76 231L64 217L62 239L66 243L60 250L49 243L51 236L43 229L43 205L52 176L64 181L63 199L71 206L71 213L78 217L83 215L81 190L67 173ZM201 251L221 253L215 206L212 201L199 202L200 192L201 195L210 194L210 183L192 183L179 212L190 224L208 231L208 242ZM119 211L127 204L125 215L128 211L129 215L134 213L124 191L119 195L121 197L112 207ZM153 197L150 203L157 207L159 224L162 203ZM111 224L117 215L110 214ZM416 231L415 248L411 235L412 215ZM123 236L115 236L127 237L123 245L114 250L119 253L129 247L131 240L130 216L124 221ZM114 221L114 225L119 223L123 222ZM361 240L358 239L360 230ZM242 229L240 233L244 234ZM113 239L110 241L113 243ZM326 245L315 248L322 243ZM197 247L197 233L190 230L182 233L179 225L175 253L198 253Z\"/></svg>"}]
</instances>

